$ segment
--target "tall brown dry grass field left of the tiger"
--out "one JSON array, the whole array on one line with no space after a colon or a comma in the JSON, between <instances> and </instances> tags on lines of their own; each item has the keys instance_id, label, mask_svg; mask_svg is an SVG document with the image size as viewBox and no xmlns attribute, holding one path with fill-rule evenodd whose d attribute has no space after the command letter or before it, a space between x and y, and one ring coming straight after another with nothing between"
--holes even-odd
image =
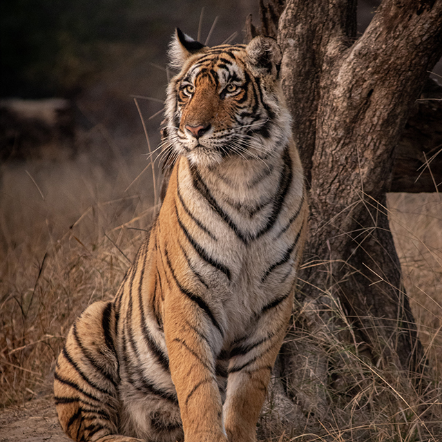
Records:
<instances>
[{"instance_id":1,"label":"tall brown dry grass field left of the tiger","mask_svg":"<svg viewBox=\"0 0 442 442\"><path fill-rule=\"evenodd\" d=\"M148 171L125 191L146 164L79 157L3 169L0 405L37 396L74 318L115 294L153 216Z\"/></svg>"}]
</instances>

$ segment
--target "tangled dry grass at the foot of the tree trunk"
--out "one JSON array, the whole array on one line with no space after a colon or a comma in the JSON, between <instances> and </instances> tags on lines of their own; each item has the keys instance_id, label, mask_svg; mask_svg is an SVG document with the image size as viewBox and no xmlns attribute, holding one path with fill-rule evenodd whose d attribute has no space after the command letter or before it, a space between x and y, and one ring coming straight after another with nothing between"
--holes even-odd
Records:
<instances>
[{"instance_id":1,"label":"tangled dry grass at the foot of the tree trunk","mask_svg":"<svg viewBox=\"0 0 442 442\"><path fill-rule=\"evenodd\" d=\"M376 367L365 356L363 348L342 339L346 332L352 333L349 325L339 329L331 327L332 323L342 323L345 314L336 300L330 299L329 305L329 322L323 324L323 330L317 328L314 334L289 337L301 355L295 364L300 376L298 379L294 376L295 379L285 385L288 385L288 395L297 401L285 405L282 403L285 394L281 395L278 387L273 388L273 397L265 404L260 420L262 439L272 442L440 442L440 377L430 369L418 375L423 382L416 383L394 364ZM313 306L307 316L310 314L316 314ZM315 348L316 352L306 354L305 348ZM394 349L390 347L390 351Z\"/></svg>"}]
</instances>

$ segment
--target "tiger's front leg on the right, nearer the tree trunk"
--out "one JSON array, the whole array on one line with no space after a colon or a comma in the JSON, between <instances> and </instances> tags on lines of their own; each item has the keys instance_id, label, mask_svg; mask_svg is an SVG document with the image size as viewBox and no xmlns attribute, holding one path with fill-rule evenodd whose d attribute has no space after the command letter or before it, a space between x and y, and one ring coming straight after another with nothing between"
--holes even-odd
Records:
<instances>
[{"instance_id":1,"label":"tiger's front leg on the right, nearer the tree trunk","mask_svg":"<svg viewBox=\"0 0 442 442\"><path fill-rule=\"evenodd\" d=\"M256 441L256 423L285 336L292 300L293 296L289 296L274 308L275 311L266 311L255 332L231 350L224 403L229 442Z\"/></svg>"}]
</instances>

